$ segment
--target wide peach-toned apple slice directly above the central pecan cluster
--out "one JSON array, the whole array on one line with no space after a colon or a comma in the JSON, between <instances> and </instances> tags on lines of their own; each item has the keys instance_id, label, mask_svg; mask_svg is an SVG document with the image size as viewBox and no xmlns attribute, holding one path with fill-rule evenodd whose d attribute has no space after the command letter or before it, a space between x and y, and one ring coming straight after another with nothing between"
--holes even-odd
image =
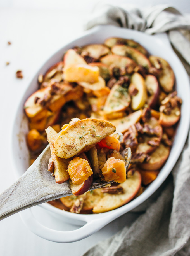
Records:
<instances>
[{"instance_id":1,"label":"wide peach-toned apple slice directly above the central pecan cluster","mask_svg":"<svg viewBox=\"0 0 190 256\"><path fill-rule=\"evenodd\" d=\"M132 59L118 55L106 55L100 59L100 62L117 68L125 68L129 65L133 66L133 68L137 66Z\"/></svg>"}]
</instances>

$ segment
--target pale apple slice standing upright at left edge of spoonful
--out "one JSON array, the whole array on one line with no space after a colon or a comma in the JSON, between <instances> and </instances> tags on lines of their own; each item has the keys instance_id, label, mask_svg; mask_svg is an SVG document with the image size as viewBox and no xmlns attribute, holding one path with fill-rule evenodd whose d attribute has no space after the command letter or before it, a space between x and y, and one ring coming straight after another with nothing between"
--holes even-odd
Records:
<instances>
[{"instance_id":1,"label":"pale apple slice standing upright at left edge of spoonful","mask_svg":"<svg viewBox=\"0 0 190 256\"><path fill-rule=\"evenodd\" d=\"M55 181L56 181L56 183L59 183L59 184L64 183L65 181L67 181L70 178L68 171L67 171L69 160L57 157L54 152L53 146L54 146L54 142L58 136L57 132L54 131L54 129L49 126L46 129L46 133L47 133L47 138L48 138L48 142L49 142L49 146L50 146L51 158L54 163Z\"/></svg>"}]
</instances>

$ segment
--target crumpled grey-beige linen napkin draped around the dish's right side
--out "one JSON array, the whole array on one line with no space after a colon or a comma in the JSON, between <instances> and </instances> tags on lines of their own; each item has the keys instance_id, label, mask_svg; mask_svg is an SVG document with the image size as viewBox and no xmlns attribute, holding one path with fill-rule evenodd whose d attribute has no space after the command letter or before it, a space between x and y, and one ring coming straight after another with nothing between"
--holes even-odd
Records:
<instances>
[{"instance_id":1,"label":"crumpled grey-beige linen napkin draped around the dish's right side","mask_svg":"<svg viewBox=\"0 0 190 256\"><path fill-rule=\"evenodd\" d=\"M182 15L166 5L144 10L106 5L92 15L86 29L101 24L128 27L148 34L168 32L190 75L189 15ZM146 213L130 227L124 227L115 236L98 243L84 256L190 255L190 136L172 176L168 177L167 186Z\"/></svg>"}]
</instances>

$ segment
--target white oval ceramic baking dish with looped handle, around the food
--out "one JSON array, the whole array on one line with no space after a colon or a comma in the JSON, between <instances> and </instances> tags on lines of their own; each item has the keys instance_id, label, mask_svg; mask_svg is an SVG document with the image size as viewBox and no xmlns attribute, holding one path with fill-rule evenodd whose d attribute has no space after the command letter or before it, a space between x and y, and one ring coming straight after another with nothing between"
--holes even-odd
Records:
<instances>
[{"instance_id":1,"label":"white oval ceramic baking dish with looped handle, around the food","mask_svg":"<svg viewBox=\"0 0 190 256\"><path fill-rule=\"evenodd\" d=\"M190 123L189 78L181 61L172 50L172 47L168 42L167 36L165 34L150 36L139 31L109 25L97 26L85 32L80 38L77 38L76 40L70 42L69 44L58 50L58 52L56 52L46 61L46 63L37 72L37 74L28 85L18 107L12 129L11 148L16 176L20 177L29 167L29 152L25 141L25 135L28 131L28 125L27 118L23 113L23 104L27 97L38 89L37 77L39 73L45 73L51 65L60 61L63 57L63 53L65 52L65 50L72 48L76 45L82 46L91 43L102 43L106 38L111 36L134 39L135 41L141 43L149 51L149 53L163 57L170 63L175 73L176 89L178 95L183 100L181 109L181 120L177 128L174 144L172 146L170 156L166 164L160 171L156 180L149 185L149 187L143 192L143 194L118 209L109 211L107 213L99 214L75 214L67 211L62 211L58 208L55 208L54 206L51 206L48 203L41 204L41 207L53 212L54 214L62 215L64 221L67 220L68 222L83 225L79 229L73 231L56 231L53 229L49 229L41 225L35 219L31 209L22 211L20 215L25 225L38 236L44 239L48 239L50 241L68 243L86 238L87 236L90 236L94 232L104 227L112 220L116 219L117 217L135 209L137 206L140 206L160 187L163 181L165 181L172 168L174 167L187 138ZM84 225L84 223L86 224Z\"/></svg>"}]
</instances>

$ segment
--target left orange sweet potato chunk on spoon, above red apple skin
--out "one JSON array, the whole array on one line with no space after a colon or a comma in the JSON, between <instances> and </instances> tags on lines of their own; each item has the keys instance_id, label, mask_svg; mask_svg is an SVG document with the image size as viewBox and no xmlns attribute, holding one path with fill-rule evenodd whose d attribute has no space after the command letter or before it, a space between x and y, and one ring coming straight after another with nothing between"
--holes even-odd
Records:
<instances>
[{"instance_id":1,"label":"left orange sweet potato chunk on spoon, above red apple skin","mask_svg":"<svg viewBox=\"0 0 190 256\"><path fill-rule=\"evenodd\" d=\"M74 185L81 184L93 173L89 162L80 157L70 161L67 171Z\"/></svg>"}]
</instances>

